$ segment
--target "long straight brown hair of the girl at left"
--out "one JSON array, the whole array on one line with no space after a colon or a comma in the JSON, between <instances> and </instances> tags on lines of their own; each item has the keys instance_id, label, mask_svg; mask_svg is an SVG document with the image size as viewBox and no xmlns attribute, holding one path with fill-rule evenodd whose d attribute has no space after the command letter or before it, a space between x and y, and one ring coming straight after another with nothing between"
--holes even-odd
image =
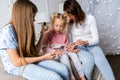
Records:
<instances>
[{"instance_id":1,"label":"long straight brown hair of the girl at left","mask_svg":"<svg viewBox=\"0 0 120 80\"><path fill-rule=\"evenodd\" d=\"M37 56L33 22L37 11L29 0L17 0L13 5L10 23L15 29L20 57Z\"/></svg>"}]
</instances>

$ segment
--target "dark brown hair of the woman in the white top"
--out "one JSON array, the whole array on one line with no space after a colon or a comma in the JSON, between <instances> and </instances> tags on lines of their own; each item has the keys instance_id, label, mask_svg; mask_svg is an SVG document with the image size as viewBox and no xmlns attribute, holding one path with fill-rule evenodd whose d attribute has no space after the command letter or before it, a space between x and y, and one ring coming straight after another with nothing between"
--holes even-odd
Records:
<instances>
[{"instance_id":1,"label":"dark brown hair of the woman in the white top","mask_svg":"<svg viewBox=\"0 0 120 80\"><path fill-rule=\"evenodd\" d=\"M76 23L83 23L85 20L85 13L82 10L81 6L76 0L66 0L64 2L64 11L68 14L72 14L75 16Z\"/></svg>"}]
</instances>

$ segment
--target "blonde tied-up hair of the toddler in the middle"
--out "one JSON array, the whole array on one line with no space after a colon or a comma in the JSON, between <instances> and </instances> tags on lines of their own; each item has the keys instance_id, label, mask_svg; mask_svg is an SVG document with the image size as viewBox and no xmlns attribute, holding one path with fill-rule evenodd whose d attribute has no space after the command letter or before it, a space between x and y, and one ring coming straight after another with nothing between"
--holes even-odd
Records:
<instances>
[{"instance_id":1,"label":"blonde tied-up hair of the toddler in the middle","mask_svg":"<svg viewBox=\"0 0 120 80\"><path fill-rule=\"evenodd\" d=\"M55 22L55 19L60 19L60 20L63 20L63 32L66 31L66 28L67 28L67 24L68 22L70 21L70 18L66 15L66 13L62 14L62 13L53 13L52 16L51 16L51 24L53 26L54 22Z\"/></svg>"}]
</instances>

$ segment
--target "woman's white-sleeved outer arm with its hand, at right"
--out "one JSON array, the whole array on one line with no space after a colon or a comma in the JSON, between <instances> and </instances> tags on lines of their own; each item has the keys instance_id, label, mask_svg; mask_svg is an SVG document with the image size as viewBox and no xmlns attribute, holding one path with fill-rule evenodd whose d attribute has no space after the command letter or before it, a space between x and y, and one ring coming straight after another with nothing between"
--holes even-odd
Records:
<instances>
[{"instance_id":1,"label":"woman's white-sleeved outer arm with its hand, at right","mask_svg":"<svg viewBox=\"0 0 120 80\"><path fill-rule=\"evenodd\" d=\"M94 16L89 15L87 18L87 26L84 27L89 27L89 37L86 37L85 40L79 39L75 42L75 45L95 45L98 44L99 42L99 37L98 37L98 30L97 30L97 25ZM83 35L84 36L84 35Z\"/></svg>"}]
</instances>

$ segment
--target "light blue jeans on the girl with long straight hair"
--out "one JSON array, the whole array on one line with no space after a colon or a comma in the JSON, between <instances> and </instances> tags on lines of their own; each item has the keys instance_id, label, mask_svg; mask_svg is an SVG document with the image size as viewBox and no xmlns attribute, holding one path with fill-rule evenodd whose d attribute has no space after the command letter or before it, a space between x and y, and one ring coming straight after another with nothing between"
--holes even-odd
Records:
<instances>
[{"instance_id":1,"label":"light blue jeans on the girl with long straight hair","mask_svg":"<svg viewBox=\"0 0 120 80\"><path fill-rule=\"evenodd\" d=\"M19 74L19 72L20 70L16 70L14 75L29 80L69 80L68 69L63 64L53 60L28 64L22 69L22 74Z\"/></svg>"}]
</instances>

